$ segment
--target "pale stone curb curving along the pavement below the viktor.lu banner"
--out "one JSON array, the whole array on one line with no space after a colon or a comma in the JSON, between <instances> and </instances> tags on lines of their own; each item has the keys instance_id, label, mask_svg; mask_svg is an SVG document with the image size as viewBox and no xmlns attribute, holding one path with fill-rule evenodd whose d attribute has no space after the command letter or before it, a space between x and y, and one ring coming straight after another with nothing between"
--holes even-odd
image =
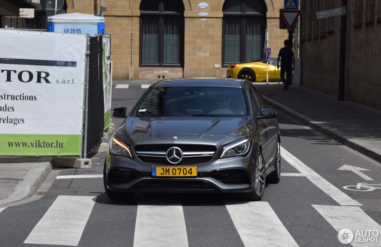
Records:
<instances>
[{"instance_id":1,"label":"pale stone curb curving along the pavement below the viktor.lu banner","mask_svg":"<svg viewBox=\"0 0 381 247\"><path fill-rule=\"evenodd\" d=\"M13 193L0 200L0 206L28 199L38 191L46 177L53 170L53 157L42 157L16 186Z\"/></svg>"}]
</instances>

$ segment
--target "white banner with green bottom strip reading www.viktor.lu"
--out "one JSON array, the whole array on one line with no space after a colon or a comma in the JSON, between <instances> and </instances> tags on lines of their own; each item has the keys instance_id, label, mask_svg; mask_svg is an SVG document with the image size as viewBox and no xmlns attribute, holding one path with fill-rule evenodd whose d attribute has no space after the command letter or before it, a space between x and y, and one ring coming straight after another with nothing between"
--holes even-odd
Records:
<instances>
[{"instance_id":1,"label":"white banner with green bottom strip reading www.viktor.lu","mask_svg":"<svg viewBox=\"0 0 381 247\"><path fill-rule=\"evenodd\" d=\"M86 40L0 30L0 155L80 152Z\"/></svg>"}]
</instances>

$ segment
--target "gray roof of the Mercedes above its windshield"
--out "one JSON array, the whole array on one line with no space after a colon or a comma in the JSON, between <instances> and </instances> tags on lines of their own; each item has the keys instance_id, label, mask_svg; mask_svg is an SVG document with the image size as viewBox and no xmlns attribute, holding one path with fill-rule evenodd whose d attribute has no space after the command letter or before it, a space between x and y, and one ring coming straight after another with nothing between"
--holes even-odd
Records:
<instances>
[{"instance_id":1,"label":"gray roof of the Mercedes above its windshield","mask_svg":"<svg viewBox=\"0 0 381 247\"><path fill-rule=\"evenodd\" d=\"M242 87L242 79L224 77L184 77L158 81L155 86L219 86Z\"/></svg>"}]
</instances>

